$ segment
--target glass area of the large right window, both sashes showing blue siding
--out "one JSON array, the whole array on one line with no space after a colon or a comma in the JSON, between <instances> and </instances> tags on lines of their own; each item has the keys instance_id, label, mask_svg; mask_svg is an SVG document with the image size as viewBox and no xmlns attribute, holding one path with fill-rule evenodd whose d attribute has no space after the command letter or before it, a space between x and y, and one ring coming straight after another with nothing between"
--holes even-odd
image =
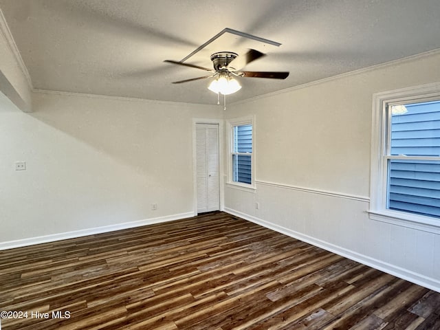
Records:
<instances>
[{"instance_id":1,"label":"glass area of the large right window, both sashes showing blue siding","mask_svg":"<svg viewBox=\"0 0 440 330\"><path fill-rule=\"evenodd\" d=\"M440 100L387 111L386 207L440 218Z\"/></svg>"}]
</instances>

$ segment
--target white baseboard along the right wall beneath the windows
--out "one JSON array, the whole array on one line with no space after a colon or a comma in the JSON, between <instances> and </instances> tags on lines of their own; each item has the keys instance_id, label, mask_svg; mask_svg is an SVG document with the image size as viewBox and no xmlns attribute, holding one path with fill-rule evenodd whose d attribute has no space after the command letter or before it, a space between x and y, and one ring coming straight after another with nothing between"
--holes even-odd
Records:
<instances>
[{"instance_id":1,"label":"white baseboard along the right wall beneath the windows","mask_svg":"<svg viewBox=\"0 0 440 330\"><path fill-rule=\"evenodd\" d=\"M397 276L406 281L410 281L417 285L421 285L423 287L427 287L428 289L432 289L436 292L440 292L440 281L435 278L430 278L428 276L424 276L419 273L412 272L410 270L406 270L401 267L397 267L390 263L384 263L383 261L373 259L369 256L365 256L364 254L359 254L358 252L353 252L351 250L347 250L338 245L333 245L326 241L321 241L320 239L316 239L314 237L308 236L306 234L302 234L300 232L296 232L294 230L290 230L289 228L285 228L281 225L276 225L274 223L270 223L269 221L265 221L263 219L259 219L249 214L245 214L243 212L239 212L237 210L233 210L231 208L225 208L225 212L228 212L236 217L241 217L242 219L251 221L258 225L262 225L265 228L269 228L276 232L281 232L281 234L285 234L287 236L291 236L294 239L299 239L300 241L309 243L311 245L318 246L324 250L339 254L340 256L344 256L348 259L358 261L358 263L362 263L364 265L375 268L376 270L380 270L382 272L386 272L393 276Z\"/></svg>"}]
</instances>

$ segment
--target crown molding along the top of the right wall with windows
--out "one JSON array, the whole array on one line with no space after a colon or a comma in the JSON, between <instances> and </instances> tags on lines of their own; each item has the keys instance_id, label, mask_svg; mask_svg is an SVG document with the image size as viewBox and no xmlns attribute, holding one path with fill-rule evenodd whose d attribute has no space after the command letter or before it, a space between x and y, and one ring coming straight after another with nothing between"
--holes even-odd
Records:
<instances>
[{"instance_id":1,"label":"crown molding along the top of the right wall with windows","mask_svg":"<svg viewBox=\"0 0 440 330\"><path fill-rule=\"evenodd\" d=\"M374 71L376 69L382 69L382 68L385 68L385 67L392 67L394 65L404 64L404 63L411 62L411 61L417 61L417 60L420 60L422 58L426 58L426 57L429 57L429 56L435 56L435 55L439 55L439 54L440 54L440 48L438 48L437 50L430 50L428 52L423 52L423 53L407 56L407 57L404 57L404 58L399 58L397 60L393 60L393 61L389 61L389 62L385 62L385 63L371 65L370 67L363 67L362 69L357 69L357 70L350 71L350 72L344 72L343 74L337 74L336 76L331 76L331 77L328 77L328 78L314 80L314 81L311 81L310 83L305 83L305 84L302 84L302 85L297 85L297 86L294 86L294 87L289 87L289 88L286 88L286 89L281 89L280 91L273 91L272 93L267 93L267 94L263 94L263 95L259 95L259 96L254 96L253 98L247 98L245 100L239 100L239 101L236 101L236 102L231 102L230 105L253 102L253 101L256 101L256 100L261 100L262 98L270 98L271 96L276 96L276 95L279 95L279 94L286 94L286 93L289 93L290 91L296 91L298 89L303 89L303 88L306 88L306 87L311 87L311 86L320 85L320 84L323 84L323 83L328 83L328 82L333 81L333 80L338 80L338 79L345 78L345 77L355 76L355 75L358 75L358 74L364 74L364 73L367 73L367 72Z\"/></svg>"}]
</instances>

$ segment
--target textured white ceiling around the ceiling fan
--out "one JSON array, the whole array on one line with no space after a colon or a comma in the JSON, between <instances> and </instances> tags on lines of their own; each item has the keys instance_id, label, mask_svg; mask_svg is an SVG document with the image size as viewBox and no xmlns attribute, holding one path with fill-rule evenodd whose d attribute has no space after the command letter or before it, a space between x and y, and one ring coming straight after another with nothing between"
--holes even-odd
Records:
<instances>
[{"instance_id":1,"label":"textured white ceiling around the ceiling fan","mask_svg":"<svg viewBox=\"0 0 440 330\"><path fill-rule=\"evenodd\" d=\"M0 0L35 89L215 104L206 72L181 61L225 28L282 43L225 34L186 63L210 54L267 56L249 71L289 71L286 80L241 78L228 102L440 48L439 0ZM438 68L435 68L438 69Z\"/></svg>"}]
</instances>

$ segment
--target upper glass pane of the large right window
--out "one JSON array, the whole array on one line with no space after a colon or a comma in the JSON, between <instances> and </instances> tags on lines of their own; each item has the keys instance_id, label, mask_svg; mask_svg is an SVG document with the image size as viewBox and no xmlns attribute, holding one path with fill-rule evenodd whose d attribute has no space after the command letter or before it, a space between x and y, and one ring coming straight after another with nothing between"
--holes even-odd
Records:
<instances>
[{"instance_id":1,"label":"upper glass pane of the large right window","mask_svg":"<svg viewBox=\"0 0 440 330\"><path fill-rule=\"evenodd\" d=\"M440 156L440 101L391 107L391 155Z\"/></svg>"}]
</instances>

